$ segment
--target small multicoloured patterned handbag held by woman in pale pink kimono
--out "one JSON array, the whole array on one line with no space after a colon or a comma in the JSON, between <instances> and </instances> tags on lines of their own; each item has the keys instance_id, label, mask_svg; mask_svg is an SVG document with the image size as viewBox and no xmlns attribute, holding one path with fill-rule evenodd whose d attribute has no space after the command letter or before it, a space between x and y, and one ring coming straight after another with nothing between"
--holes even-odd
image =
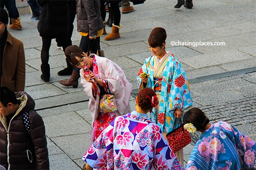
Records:
<instances>
[{"instance_id":1,"label":"small multicoloured patterned handbag held by woman in pale pink kimono","mask_svg":"<svg viewBox=\"0 0 256 170\"><path fill-rule=\"evenodd\" d=\"M108 81L106 81L107 88L108 88ZM115 102L115 96L114 94L110 93L110 90L108 88L108 91L103 92L100 98L100 107L99 112L109 113L109 112L115 112L117 110L116 102Z\"/></svg>"}]
</instances>

